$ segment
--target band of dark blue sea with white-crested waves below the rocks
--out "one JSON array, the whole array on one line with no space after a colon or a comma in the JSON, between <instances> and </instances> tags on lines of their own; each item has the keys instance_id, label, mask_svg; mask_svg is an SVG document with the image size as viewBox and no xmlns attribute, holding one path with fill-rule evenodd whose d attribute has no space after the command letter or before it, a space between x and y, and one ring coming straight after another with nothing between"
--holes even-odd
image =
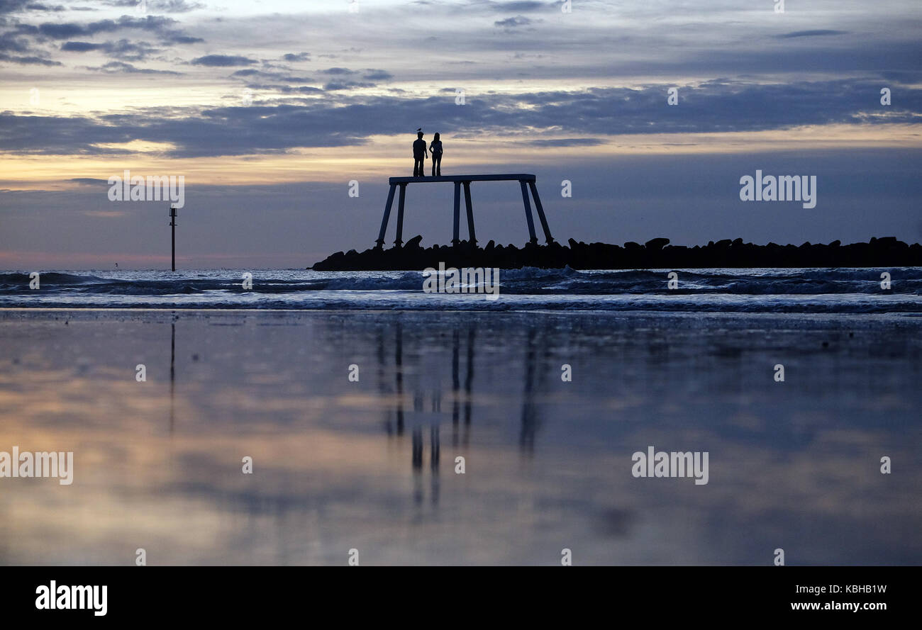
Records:
<instances>
[{"instance_id":1,"label":"band of dark blue sea with white-crested waves below the rocks","mask_svg":"<svg viewBox=\"0 0 922 630\"><path fill-rule=\"evenodd\" d=\"M679 286L668 287L675 271ZM881 287L881 274L891 287ZM0 307L195 309L624 309L734 312L922 311L922 268L501 270L500 299L422 291L421 272L257 270L0 274ZM482 289L482 285L480 286Z\"/></svg>"}]
</instances>

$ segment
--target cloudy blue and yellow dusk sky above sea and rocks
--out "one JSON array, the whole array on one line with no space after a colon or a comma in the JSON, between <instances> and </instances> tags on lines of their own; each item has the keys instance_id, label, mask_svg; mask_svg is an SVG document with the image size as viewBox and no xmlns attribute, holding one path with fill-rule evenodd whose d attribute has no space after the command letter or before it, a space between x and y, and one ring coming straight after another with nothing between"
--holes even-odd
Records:
<instances>
[{"instance_id":1,"label":"cloudy blue and yellow dusk sky above sea and rocks","mask_svg":"<svg viewBox=\"0 0 922 630\"><path fill-rule=\"evenodd\" d=\"M180 267L364 250L418 127L443 174L536 174L564 243L922 240L922 3L779 2L0 0L0 268L168 268L125 170L183 177ZM757 169L817 204L741 201ZM471 194L526 242L515 182ZM411 184L404 239L452 195Z\"/></svg>"}]
</instances>

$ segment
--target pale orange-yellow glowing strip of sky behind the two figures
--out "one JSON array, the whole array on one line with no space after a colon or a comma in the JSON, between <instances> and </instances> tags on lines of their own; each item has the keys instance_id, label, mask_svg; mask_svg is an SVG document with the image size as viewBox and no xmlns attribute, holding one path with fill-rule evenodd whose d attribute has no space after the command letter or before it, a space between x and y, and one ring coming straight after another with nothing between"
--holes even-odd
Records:
<instances>
[{"instance_id":1,"label":"pale orange-yellow glowing strip of sky behind the two figures","mask_svg":"<svg viewBox=\"0 0 922 630\"><path fill-rule=\"evenodd\" d=\"M427 135L431 137L431 135ZM468 166L521 163L537 167L559 164L561 160L617 158L646 155L715 155L772 151L832 150L840 148L922 148L922 137L913 125L836 124L798 127L780 131L728 132L707 134L623 134L591 137L596 146L536 146L521 135L478 138L453 138L443 134L445 165L454 172ZM580 137L580 136L575 136ZM0 157L4 179L0 188L8 190L73 190L81 185L77 178L108 180L133 175L183 175L185 185L269 185L321 181L341 183L344 178L379 179L408 170L411 163L409 136L372 136L361 146L363 157L355 157L357 147L311 147L288 153L246 156L181 157L165 156L161 146L130 143L138 150L118 157L30 156Z\"/></svg>"}]
</instances>

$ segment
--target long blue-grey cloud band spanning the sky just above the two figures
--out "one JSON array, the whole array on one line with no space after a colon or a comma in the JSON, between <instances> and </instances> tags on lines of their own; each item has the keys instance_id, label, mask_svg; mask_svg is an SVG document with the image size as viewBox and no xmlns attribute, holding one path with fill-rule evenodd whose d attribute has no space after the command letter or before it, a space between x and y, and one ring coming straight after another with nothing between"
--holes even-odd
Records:
<instances>
[{"instance_id":1,"label":"long blue-grey cloud band spanning the sky just above the two figures","mask_svg":"<svg viewBox=\"0 0 922 630\"><path fill-rule=\"evenodd\" d=\"M127 65L127 64L125 64ZM133 72L109 64L103 72ZM135 70L144 72L143 70ZM922 115L922 89L902 87L887 116L880 80L851 79L791 85L719 80L680 87L680 105L666 105L667 85L593 88L470 96L458 107L451 96L359 95L349 85L278 88L307 95L298 102L250 107L178 110L150 108L89 117L0 114L0 146L9 153L106 153L104 144L133 140L173 146L173 157L280 153L301 146L359 146L372 135L401 134L421 125L445 135L505 134L533 146L594 146L617 134L721 133L786 129L831 123L914 123ZM551 136L542 138L541 136ZM562 140L553 136L565 136ZM580 138L585 136L585 138Z\"/></svg>"}]
</instances>

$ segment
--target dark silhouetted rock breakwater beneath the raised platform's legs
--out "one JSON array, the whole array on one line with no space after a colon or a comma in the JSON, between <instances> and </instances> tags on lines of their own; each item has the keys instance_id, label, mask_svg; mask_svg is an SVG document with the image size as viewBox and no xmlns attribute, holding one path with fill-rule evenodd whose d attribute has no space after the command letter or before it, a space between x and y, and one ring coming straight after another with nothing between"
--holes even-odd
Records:
<instances>
[{"instance_id":1,"label":"dark silhouetted rock breakwater beneath the raised platform's legs","mask_svg":"<svg viewBox=\"0 0 922 630\"><path fill-rule=\"evenodd\" d=\"M843 245L806 242L802 245L753 245L743 239L710 241L704 246L669 245L669 239L651 239L643 245L550 243L518 248L496 245L480 248L467 241L457 245L420 246L422 237L389 250L337 251L316 262L313 271L403 271L438 267L499 267L521 269L742 269L793 267L916 267L922 266L922 245L908 245L895 237L872 238L867 243Z\"/></svg>"}]
</instances>

